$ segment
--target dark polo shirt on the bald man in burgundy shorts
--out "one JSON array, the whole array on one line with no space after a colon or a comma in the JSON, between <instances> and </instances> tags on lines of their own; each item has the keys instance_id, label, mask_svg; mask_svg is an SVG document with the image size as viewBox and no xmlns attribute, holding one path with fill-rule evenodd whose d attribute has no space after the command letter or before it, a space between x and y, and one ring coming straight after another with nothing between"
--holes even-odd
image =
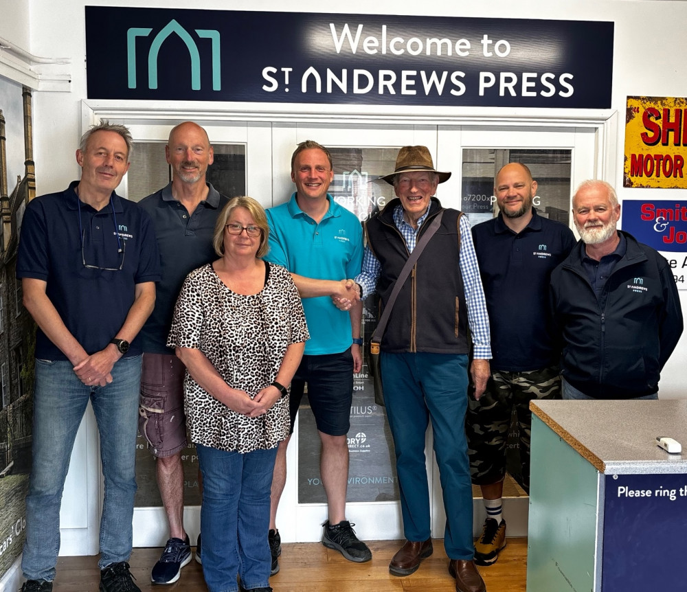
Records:
<instances>
[{"instance_id":1,"label":"dark polo shirt on the bald man in burgundy shorts","mask_svg":"<svg viewBox=\"0 0 687 592\"><path fill-rule=\"evenodd\" d=\"M162 270L155 309L141 330L144 352L173 353L167 347L167 336L181 284L191 271L218 259L212 248L212 237L217 217L229 198L221 195L211 183L207 183L207 188L207 198L198 204L191 216L172 197L172 183L138 203L153 220Z\"/></svg>"}]
</instances>

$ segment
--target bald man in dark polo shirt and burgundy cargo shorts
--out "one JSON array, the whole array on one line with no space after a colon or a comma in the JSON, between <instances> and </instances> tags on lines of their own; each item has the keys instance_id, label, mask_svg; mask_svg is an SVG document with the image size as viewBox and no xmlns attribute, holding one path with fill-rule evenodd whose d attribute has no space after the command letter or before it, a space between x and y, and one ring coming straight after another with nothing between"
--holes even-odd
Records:
<instances>
[{"instance_id":1,"label":"bald man in dark polo shirt and burgundy cargo shorts","mask_svg":"<svg viewBox=\"0 0 687 592\"><path fill-rule=\"evenodd\" d=\"M143 374L139 431L156 458L157 485L169 523L170 538L151 580L172 584L191 560L183 527L183 466L186 442L183 413L185 367L166 346L174 303L188 273L217 258L212 236L217 216L229 199L205 181L214 152L201 126L184 122L172 129L165 148L172 166L172 182L139 205L155 226L162 266L155 310L141 331ZM200 551L196 549L200 562Z\"/></svg>"}]
</instances>

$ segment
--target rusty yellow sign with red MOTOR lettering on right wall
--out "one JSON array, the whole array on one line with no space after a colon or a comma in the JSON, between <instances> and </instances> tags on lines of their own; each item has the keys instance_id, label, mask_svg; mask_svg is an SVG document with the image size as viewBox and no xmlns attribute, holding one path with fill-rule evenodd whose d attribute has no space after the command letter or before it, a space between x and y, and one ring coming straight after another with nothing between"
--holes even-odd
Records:
<instances>
[{"instance_id":1,"label":"rusty yellow sign with red MOTOR lettering on right wall","mask_svg":"<svg viewBox=\"0 0 687 592\"><path fill-rule=\"evenodd\" d=\"M686 98L627 98L622 185L687 188Z\"/></svg>"}]
</instances>

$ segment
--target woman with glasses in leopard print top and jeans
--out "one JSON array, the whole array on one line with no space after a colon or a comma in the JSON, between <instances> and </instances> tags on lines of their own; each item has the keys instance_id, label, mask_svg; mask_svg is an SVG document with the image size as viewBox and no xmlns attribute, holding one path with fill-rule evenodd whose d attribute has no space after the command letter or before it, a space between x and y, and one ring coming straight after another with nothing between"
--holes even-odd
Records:
<instances>
[{"instance_id":1,"label":"woman with glasses in leopard print top and jeans","mask_svg":"<svg viewBox=\"0 0 687 592\"><path fill-rule=\"evenodd\" d=\"M220 259L186 278L168 339L188 369L184 408L203 473L203 573L210 592L269 590L269 495L289 435L286 387L308 328L291 275L260 259L269 228L252 198L217 220Z\"/></svg>"}]
</instances>

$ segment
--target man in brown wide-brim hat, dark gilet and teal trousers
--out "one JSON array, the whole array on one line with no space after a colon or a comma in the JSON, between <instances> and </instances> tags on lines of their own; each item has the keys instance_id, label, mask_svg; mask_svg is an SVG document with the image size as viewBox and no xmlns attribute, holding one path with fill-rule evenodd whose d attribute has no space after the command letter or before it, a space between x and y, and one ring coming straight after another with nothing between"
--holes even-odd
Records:
<instances>
[{"instance_id":1,"label":"man in brown wide-brim hat, dark gilet and teal trousers","mask_svg":"<svg viewBox=\"0 0 687 592\"><path fill-rule=\"evenodd\" d=\"M447 526L444 549L456 592L486 592L473 560L473 501L464 419L468 376L475 398L490 376L489 321L466 216L434 196L450 172L440 172L426 146L404 146L384 179L396 198L365 223L368 244L356 277L361 299L379 293L387 308L410 253L436 220L438 229L403 282L380 343L387 418L396 448L405 543L389 571L409 576L433 552L425 433L429 419L442 483ZM469 362L472 335L474 359Z\"/></svg>"}]
</instances>

